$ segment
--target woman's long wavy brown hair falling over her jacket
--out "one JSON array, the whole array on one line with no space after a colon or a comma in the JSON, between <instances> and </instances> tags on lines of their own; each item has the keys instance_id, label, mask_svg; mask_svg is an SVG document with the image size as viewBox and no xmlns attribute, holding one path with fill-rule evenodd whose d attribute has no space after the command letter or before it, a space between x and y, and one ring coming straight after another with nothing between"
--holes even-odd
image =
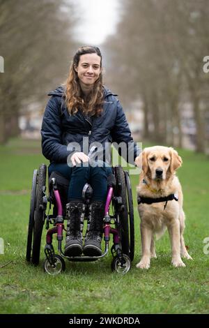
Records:
<instances>
[{"instance_id":1,"label":"woman's long wavy brown hair falling over her jacket","mask_svg":"<svg viewBox=\"0 0 209 328\"><path fill-rule=\"evenodd\" d=\"M102 68L102 54L98 47L84 46L79 47L75 56L73 57L70 66L68 79L65 85L65 104L68 108L69 114L75 114L78 110L82 110L84 114L99 116L102 112L104 92L102 83L102 70L98 80L95 81L93 89L87 97L82 97L82 89L79 84L79 77L75 67L79 64L79 59L82 54L98 54L101 58L100 67Z\"/></svg>"}]
</instances>

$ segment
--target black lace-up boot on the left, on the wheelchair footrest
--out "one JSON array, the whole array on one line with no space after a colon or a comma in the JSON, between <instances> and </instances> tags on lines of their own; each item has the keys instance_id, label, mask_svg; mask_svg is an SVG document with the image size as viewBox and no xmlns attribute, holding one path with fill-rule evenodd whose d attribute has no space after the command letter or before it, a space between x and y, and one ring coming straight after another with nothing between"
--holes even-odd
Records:
<instances>
[{"instance_id":1,"label":"black lace-up boot on the left, on the wheelchair footrest","mask_svg":"<svg viewBox=\"0 0 209 328\"><path fill-rule=\"evenodd\" d=\"M79 256L83 251L82 225L85 204L82 200L72 200L66 204L68 225L66 232L65 255Z\"/></svg>"}]
</instances>

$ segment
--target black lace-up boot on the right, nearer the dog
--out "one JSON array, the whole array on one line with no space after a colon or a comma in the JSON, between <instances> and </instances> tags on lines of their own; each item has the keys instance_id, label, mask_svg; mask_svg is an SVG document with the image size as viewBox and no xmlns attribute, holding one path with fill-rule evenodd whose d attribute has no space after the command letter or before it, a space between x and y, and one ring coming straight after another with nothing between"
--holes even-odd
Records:
<instances>
[{"instance_id":1,"label":"black lace-up boot on the right, nearer the dog","mask_svg":"<svg viewBox=\"0 0 209 328\"><path fill-rule=\"evenodd\" d=\"M83 253L86 256L102 255L102 227L104 218L104 202L93 201L91 204L88 230L84 241Z\"/></svg>"}]
</instances>

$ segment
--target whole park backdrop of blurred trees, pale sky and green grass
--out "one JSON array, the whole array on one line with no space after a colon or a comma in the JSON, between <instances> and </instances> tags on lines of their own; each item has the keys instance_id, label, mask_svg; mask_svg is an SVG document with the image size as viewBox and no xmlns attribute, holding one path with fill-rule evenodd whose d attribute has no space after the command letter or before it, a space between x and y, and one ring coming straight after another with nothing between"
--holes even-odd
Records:
<instances>
[{"instance_id":1,"label":"whole park backdrop of blurred trees, pale sky and green grass","mask_svg":"<svg viewBox=\"0 0 209 328\"><path fill-rule=\"evenodd\" d=\"M208 313L209 56L207 0L0 0L0 313ZM167 234L158 259L126 276L111 256L44 274L25 261L33 170L47 163L40 124L47 92L65 82L80 45L98 45L104 84L121 100L134 140L178 149L193 261L171 267ZM3 60L2 60L3 59ZM44 237L42 246L44 246ZM204 244L205 241L205 244Z\"/></svg>"}]
</instances>

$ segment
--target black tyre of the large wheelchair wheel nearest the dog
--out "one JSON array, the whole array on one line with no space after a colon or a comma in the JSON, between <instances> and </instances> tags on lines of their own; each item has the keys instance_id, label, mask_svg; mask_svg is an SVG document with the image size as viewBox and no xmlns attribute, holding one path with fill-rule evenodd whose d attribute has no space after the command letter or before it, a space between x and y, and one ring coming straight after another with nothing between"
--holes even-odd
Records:
<instances>
[{"instance_id":1,"label":"black tyre of the large wheelchair wheel nearest the dog","mask_svg":"<svg viewBox=\"0 0 209 328\"><path fill-rule=\"evenodd\" d=\"M119 212L119 226L118 232L121 239L121 247L124 254L130 255L130 242L129 242L129 225L128 225L128 213L127 213L127 195L125 185L125 174L121 166L114 168L116 175L116 196L122 198L123 209ZM118 208L116 207L116 211Z\"/></svg>"}]
</instances>

